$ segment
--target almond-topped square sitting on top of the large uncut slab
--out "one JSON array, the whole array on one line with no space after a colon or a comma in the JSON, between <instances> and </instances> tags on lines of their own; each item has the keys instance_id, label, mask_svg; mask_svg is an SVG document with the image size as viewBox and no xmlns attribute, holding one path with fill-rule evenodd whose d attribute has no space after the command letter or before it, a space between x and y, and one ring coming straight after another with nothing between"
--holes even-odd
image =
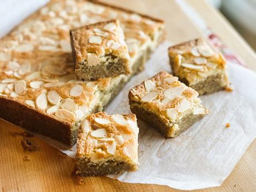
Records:
<instances>
[{"instance_id":1,"label":"almond-topped square sitting on top of the large uncut slab","mask_svg":"<svg viewBox=\"0 0 256 192\"><path fill-rule=\"evenodd\" d=\"M75 73L80 80L131 73L129 51L119 21L90 24L70 34Z\"/></svg>"}]
</instances>

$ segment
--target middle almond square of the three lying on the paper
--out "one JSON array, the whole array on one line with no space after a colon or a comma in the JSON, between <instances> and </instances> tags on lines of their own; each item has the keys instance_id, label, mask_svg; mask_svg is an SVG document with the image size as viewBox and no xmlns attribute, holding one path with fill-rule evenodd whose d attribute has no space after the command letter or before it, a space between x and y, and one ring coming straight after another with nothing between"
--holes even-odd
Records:
<instances>
[{"instance_id":1,"label":"middle almond square of the three lying on the paper","mask_svg":"<svg viewBox=\"0 0 256 192\"><path fill-rule=\"evenodd\" d=\"M132 88L129 103L137 117L166 137L176 137L208 114L198 95L178 77L160 72Z\"/></svg>"}]
</instances>

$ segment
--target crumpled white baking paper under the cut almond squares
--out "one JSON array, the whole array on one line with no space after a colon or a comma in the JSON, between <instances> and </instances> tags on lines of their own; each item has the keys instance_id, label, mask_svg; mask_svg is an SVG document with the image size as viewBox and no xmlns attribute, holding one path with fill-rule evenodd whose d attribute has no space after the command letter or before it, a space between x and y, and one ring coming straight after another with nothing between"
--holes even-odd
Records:
<instances>
[{"instance_id":1,"label":"crumpled white baking paper under the cut almond squares","mask_svg":"<svg viewBox=\"0 0 256 192\"><path fill-rule=\"evenodd\" d=\"M130 113L128 92L157 72L171 72L167 48L160 45L146 63L145 71L134 76L111 102L110 114ZM140 169L110 175L126 183L168 185L181 190L219 186L228 177L256 137L256 73L228 63L233 92L220 91L201 96L210 114L174 139L165 139L150 125L138 120ZM230 123L230 127L225 125ZM75 157L76 146L62 152Z\"/></svg>"}]
</instances>

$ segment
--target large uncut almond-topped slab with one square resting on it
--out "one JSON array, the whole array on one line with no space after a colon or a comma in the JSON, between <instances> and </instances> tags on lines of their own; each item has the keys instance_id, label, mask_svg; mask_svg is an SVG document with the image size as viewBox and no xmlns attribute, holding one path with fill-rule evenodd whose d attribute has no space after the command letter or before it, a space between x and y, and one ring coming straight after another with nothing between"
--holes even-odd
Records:
<instances>
[{"instance_id":1,"label":"large uncut almond-topped slab with one square resting on it","mask_svg":"<svg viewBox=\"0 0 256 192\"><path fill-rule=\"evenodd\" d=\"M70 29L119 19L133 75L159 43L163 22L106 4L52 0L0 40L0 117L73 145L81 121L101 111L131 75L77 80Z\"/></svg>"}]
</instances>

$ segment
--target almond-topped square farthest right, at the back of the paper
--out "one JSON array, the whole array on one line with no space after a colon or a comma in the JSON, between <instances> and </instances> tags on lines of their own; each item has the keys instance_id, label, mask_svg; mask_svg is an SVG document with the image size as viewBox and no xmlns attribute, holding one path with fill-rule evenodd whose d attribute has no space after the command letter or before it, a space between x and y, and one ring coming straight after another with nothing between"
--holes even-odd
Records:
<instances>
[{"instance_id":1,"label":"almond-topped square farthest right, at the back of the paper","mask_svg":"<svg viewBox=\"0 0 256 192\"><path fill-rule=\"evenodd\" d=\"M200 95L229 85L225 59L204 38L169 47L169 58L174 75Z\"/></svg>"}]
</instances>

